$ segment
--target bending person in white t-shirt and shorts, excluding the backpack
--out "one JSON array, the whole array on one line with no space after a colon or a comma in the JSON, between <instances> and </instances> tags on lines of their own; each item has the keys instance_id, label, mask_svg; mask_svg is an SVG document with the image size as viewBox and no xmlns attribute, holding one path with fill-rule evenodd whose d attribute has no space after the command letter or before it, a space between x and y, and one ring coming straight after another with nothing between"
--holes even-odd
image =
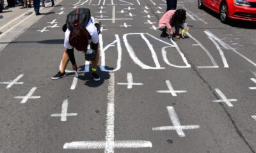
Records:
<instances>
[{"instance_id":1,"label":"bending person in white t-shirt and shorts, excluding the backpack","mask_svg":"<svg viewBox=\"0 0 256 153\"><path fill-rule=\"evenodd\" d=\"M85 55L85 59L87 61L92 62L92 78L95 81L99 81L100 77L97 75L97 66L99 62L99 34L97 27L95 26L96 18L90 17L88 20L88 24L86 24L86 28L81 28L79 26L74 27L72 31L63 26L63 31L65 31L65 40L64 47L65 50L61 59L61 69L60 71L52 77L52 80L57 80L59 78L65 77L67 74L65 73L65 69L69 61L72 63L72 69L77 71L76 60L74 57L74 48L79 51L83 51ZM67 29L67 30L66 30ZM88 45L92 48L92 50L88 50ZM88 52L92 52L93 54L87 54ZM89 55L93 55L93 57L89 57Z\"/></svg>"}]
</instances>

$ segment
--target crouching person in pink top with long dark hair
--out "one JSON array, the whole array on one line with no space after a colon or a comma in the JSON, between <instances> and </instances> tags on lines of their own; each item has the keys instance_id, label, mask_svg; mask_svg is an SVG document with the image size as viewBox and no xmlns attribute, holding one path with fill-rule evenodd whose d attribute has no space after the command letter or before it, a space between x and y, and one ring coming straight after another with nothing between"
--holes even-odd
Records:
<instances>
[{"instance_id":1,"label":"crouching person in pink top with long dark hair","mask_svg":"<svg viewBox=\"0 0 256 153\"><path fill-rule=\"evenodd\" d=\"M170 34L173 36L173 29L175 27L175 38L180 38L180 28L184 29L183 24L186 20L186 11L183 9L179 10L170 10L164 13L163 17L159 20L159 30L163 31L161 37L167 37L167 30L170 31Z\"/></svg>"}]
</instances>

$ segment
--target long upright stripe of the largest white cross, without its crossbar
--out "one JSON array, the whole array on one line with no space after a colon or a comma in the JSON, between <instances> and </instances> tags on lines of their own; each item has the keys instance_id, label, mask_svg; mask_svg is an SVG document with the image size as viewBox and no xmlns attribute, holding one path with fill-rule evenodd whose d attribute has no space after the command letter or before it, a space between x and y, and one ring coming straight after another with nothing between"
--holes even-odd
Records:
<instances>
[{"instance_id":1,"label":"long upright stripe of the largest white cross, without its crossbar","mask_svg":"<svg viewBox=\"0 0 256 153\"><path fill-rule=\"evenodd\" d=\"M115 138L115 73L109 73L108 108L106 119L106 144L104 153L114 152Z\"/></svg>"}]
</instances>

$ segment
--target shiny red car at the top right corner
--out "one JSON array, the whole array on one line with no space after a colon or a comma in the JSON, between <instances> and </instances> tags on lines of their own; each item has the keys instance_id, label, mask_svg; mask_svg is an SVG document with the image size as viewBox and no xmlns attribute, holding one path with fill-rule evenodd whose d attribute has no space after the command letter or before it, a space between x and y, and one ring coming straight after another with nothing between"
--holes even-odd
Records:
<instances>
[{"instance_id":1,"label":"shiny red car at the top right corner","mask_svg":"<svg viewBox=\"0 0 256 153\"><path fill-rule=\"evenodd\" d=\"M220 21L228 18L256 21L256 0L198 0L198 8L210 8L220 13Z\"/></svg>"}]
</instances>

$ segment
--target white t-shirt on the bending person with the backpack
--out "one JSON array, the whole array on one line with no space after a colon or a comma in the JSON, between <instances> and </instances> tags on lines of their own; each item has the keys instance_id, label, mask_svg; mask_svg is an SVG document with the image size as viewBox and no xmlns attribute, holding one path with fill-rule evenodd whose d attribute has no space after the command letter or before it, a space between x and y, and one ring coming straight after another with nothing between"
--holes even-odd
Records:
<instances>
[{"instance_id":1,"label":"white t-shirt on the bending person with the backpack","mask_svg":"<svg viewBox=\"0 0 256 153\"><path fill-rule=\"evenodd\" d=\"M89 42L91 43L98 43L99 42L99 34L97 31L97 27L95 27L94 25L94 18L91 17L91 20L89 20L88 24L85 27L88 31L88 33L90 33L91 35L91 40L89 40ZM74 47L72 47L69 44L69 34L70 34L70 30L67 29L67 31L65 32L65 40L64 40L64 47L68 48L68 49L72 49Z\"/></svg>"}]
</instances>

